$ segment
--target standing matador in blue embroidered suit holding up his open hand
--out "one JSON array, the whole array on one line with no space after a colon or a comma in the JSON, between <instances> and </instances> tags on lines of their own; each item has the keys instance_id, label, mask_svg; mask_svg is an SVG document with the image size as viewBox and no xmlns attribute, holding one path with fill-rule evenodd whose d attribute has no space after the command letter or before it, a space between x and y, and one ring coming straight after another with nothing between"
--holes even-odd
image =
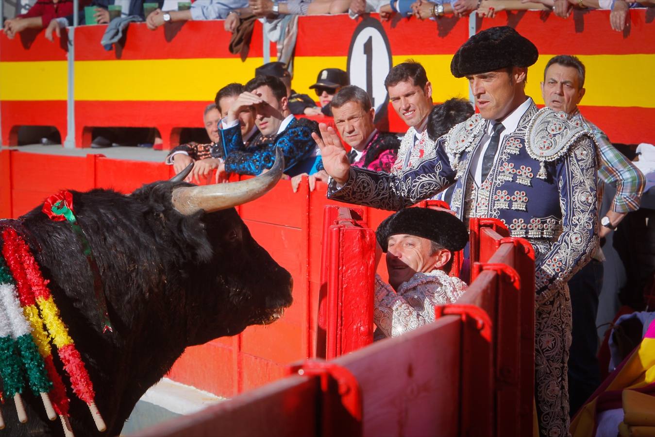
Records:
<instances>
[{"instance_id":1,"label":"standing matador in blue embroidered suit holding up his open hand","mask_svg":"<svg viewBox=\"0 0 655 437\"><path fill-rule=\"evenodd\" d=\"M474 35L451 62L466 77L479 114L436 142L436 156L398 175L346 167L341 143L321 126L328 197L387 210L429 199L455 184L451 208L500 219L533 245L536 278L535 392L542 436L569 432L567 281L589 261L597 238L597 148L566 113L537 109L525 95L533 43L509 27ZM434 155L432 155L434 156Z\"/></svg>"}]
</instances>

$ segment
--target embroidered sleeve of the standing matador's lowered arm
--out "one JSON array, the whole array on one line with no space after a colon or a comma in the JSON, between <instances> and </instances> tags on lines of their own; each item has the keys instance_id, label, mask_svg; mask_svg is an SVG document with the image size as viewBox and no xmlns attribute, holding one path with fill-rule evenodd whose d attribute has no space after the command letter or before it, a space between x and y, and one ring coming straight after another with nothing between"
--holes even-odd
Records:
<instances>
[{"instance_id":1,"label":"embroidered sleeve of the standing matador's lowered arm","mask_svg":"<svg viewBox=\"0 0 655 437\"><path fill-rule=\"evenodd\" d=\"M596 164L593 142L582 136L557 165L562 233L535 266L537 294L567 282L598 247Z\"/></svg>"}]
</instances>

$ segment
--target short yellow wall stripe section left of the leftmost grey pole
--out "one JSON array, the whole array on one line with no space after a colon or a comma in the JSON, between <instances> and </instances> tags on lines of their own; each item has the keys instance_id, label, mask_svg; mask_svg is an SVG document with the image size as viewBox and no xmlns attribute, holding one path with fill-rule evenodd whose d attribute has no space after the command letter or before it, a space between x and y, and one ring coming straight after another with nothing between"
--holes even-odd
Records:
<instances>
[{"instance_id":1,"label":"short yellow wall stripe section left of the leftmost grey pole","mask_svg":"<svg viewBox=\"0 0 655 437\"><path fill-rule=\"evenodd\" d=\"M66 100L66 61L0 62L0 100Z\"/></svg>"}]
</instances>

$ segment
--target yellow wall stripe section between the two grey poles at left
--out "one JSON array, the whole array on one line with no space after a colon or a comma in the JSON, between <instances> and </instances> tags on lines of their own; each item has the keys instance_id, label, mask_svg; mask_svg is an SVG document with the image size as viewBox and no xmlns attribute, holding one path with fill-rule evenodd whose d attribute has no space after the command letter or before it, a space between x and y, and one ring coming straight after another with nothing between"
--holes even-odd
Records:
<instances>
[{"instance_id":1,"label":"yellow wall stripe section between the two grey poles at left","mask_svg":"<svg viewBox=\"0 0 655 437\"><path fill-rule=\"evenodd\" d=\"M210 101L229 83L246 83L262 58L75 62L75 100Z\"/></svg>"}]
</instances>

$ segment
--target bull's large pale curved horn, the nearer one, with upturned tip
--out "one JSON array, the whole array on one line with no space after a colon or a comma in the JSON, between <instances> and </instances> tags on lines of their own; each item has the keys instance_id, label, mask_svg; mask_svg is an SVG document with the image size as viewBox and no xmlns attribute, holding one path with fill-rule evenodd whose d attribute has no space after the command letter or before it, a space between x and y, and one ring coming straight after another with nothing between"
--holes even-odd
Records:
<instances>
[{"instance_id":1,"label":"bull's large pale curved horn, the nearer one, with upturned tip","mask_svg":"<svg viewBox=\"0 0 655 437\"><path fill-rule=\"evenodd\" d=\"M189 216L199 210L214 212L233 208L263 196L282 177L284 156L275 150L275 162L271 170L247 181L215 183L198 187L179 187L173 190L171 201L178 212Z\"/></svg>"}]
</instances>

